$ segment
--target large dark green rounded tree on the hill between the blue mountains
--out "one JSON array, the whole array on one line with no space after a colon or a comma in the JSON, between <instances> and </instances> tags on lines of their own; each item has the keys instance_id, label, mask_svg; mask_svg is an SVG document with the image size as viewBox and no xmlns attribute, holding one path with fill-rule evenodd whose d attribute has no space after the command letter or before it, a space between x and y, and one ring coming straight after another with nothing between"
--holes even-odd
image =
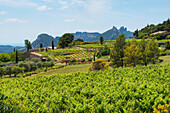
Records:
<instances>
[{"instance_id":1,"label":"large dark green rounded tree on the hill between the blue mountains","mask_svg":"<svg viewBox=\"0 0 170 113\"><path fill-rule=\"evenodd\" d=\"M62 37L60 37L57 48L68 47L68 44L70 44L73 40L74 40L74 35L70 33L65 33Z\"/></svg>"}]
</instances>

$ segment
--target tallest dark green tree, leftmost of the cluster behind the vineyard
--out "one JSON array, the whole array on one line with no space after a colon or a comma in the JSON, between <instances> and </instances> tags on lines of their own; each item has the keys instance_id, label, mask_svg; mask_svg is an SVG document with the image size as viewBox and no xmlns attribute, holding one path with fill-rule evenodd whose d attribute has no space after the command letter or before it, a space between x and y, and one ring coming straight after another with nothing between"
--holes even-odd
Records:
<instances>
[{"instance_id":1,"label":"tallest dark green tree, leftmost of the cluster behind the vineyard","mask_svg":"<svg viewBox=\"0 0 170 113\"><path fill-rule=\"evenodd\" d=\"M120 34L116 37L114 47L110 50L110 61L113 67L123 67L124 47L125 47L125 35Z\"/></svg>"}]
</instances>

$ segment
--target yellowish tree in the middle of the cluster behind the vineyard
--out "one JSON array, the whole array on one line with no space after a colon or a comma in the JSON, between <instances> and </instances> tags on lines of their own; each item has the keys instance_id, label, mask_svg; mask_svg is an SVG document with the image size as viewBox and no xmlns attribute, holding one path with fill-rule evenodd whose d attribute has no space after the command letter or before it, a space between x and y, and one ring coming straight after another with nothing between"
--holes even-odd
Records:
<instances>
[{"instance_id":1,"label":"yellowish tree in the middle of the cluster behind the vineyard","mask_svg":"<svg viewBox=\"0 0 170 113\"><path fill-rule=\"evenodd\" d=\"M140 56L142 55L139 46L133 40L130 46L124 49L124 65L136 67L140 63Z\"/></svg>"}]
</instances>

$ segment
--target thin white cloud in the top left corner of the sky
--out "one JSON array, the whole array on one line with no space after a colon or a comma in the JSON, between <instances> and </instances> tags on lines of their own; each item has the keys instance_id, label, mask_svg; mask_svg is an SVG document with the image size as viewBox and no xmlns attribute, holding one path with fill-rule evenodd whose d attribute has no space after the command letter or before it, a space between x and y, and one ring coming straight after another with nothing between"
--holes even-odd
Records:
<instances>
[{"instance_id":1,"label":"thin white cloud in the top left corner of the sky","mask_svg":"<svg viewBox=\"0 0 170 113\"><path fill-rule=\"evenodd\" d=\"M28 0L0 0L0 4L4 4L4 5L8 5L8 6L14 6L14 7L18 7L18 6L37 6L36 3L34 2L30 2Z\"/></svg>"}]
</instances>

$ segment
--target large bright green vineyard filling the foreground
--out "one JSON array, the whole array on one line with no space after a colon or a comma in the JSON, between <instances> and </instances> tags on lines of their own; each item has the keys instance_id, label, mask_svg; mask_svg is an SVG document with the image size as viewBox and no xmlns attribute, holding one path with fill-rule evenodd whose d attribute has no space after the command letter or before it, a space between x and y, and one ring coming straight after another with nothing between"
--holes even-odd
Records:
<instances>
[{"instance_id":1,"label":"large bright green vineyard filling the foreground","mask_svg":"<svg viewBox=\"0 0 170 113\"><path fill-rule=\"evenodd\" d=\"M1 79L1 112L169 112L170 64Z\"/></svg>"}]
</instances>

